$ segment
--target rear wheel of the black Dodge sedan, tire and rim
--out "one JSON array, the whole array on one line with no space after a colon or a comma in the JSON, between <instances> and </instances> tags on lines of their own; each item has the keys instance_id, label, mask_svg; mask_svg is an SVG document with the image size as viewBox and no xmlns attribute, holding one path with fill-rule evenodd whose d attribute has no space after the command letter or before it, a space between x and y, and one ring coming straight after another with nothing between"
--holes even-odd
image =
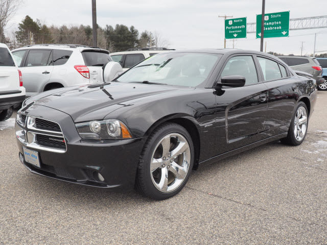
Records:
<instances>
[{"instance_id":1,"label":"rear wheel of the black Dodge sedan, tire and rim","mask_svg":"<svg viewBox=\"0 0 327 245\"><path fill-rule=\"evenodd\" d=\"M298 103L287 137L281 139L281 142L290 145L301 144L307 135L308 119L309 113L306 104L303 102Z\"/></svg>"}]
</instances>

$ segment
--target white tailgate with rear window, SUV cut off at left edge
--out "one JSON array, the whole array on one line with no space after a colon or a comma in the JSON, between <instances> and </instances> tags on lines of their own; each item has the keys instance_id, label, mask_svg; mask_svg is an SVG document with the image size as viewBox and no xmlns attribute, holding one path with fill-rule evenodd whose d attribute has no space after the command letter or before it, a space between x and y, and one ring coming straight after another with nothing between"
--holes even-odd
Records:
<instances>
[{"instance_id":1,"label":"white tailgate with rear window, SUV cut off at left edge","mask_svg":"<svg viewBox=\"0 0 327 245\"><path fill-rule=\"evenodd\" d=\"M1 92L19 88L18 70L7 47L0 47L0 95Z\"/></svg>"}]
</instances>

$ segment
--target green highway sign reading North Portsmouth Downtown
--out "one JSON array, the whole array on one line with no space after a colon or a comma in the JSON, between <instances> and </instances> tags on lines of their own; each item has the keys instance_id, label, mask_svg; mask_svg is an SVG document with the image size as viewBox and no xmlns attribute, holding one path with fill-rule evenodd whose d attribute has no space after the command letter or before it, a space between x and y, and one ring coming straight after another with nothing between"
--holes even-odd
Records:
<instances>
[{"instance_id":1,"label":"green highway sign reading North Portsmouth Downtown","mask_svg":"<svg viewBox=\"0 0 327 245\"><path fill-rule=\"evenodd\" d=\"M246 37L246 17L225 19L225 39Z\"/></svg>"}]
</instances>

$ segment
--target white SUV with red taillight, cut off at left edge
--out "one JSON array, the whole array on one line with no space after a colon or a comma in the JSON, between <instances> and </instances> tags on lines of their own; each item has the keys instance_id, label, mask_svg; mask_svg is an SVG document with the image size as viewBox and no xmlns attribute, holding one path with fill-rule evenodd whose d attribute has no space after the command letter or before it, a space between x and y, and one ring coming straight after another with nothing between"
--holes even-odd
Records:
<instances>
[{"instance_id":1,"label":"white SUV with red taillight, cut off at left edge","mask_svg":"<svg viewBox=\"0 0 327 245\"><path fill-rule=\"evenodd\" d=\"M21 71L10 53L8 46L0 43L0 121L11 117L12 110L25 100Z\"/></svg>"}]
</instances>

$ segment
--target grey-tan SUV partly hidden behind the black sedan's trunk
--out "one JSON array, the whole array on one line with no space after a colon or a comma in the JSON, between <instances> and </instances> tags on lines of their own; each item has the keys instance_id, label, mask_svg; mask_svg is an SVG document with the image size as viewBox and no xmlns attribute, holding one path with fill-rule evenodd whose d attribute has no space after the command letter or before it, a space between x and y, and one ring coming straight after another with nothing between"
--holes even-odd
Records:
<instances>
[{"instance_id":1,"label":"grey-tan SUV partly hidden behind the black sedan's trunk","mask_svg":"<svg viewBox=\"0 0 327 245\"><path fill-rule=\"evenodd\" d=\"M322 68L315 57L278 56L278 58L283 60L293 70L304 71L311 74L316 81L322 78ZM318 85L318 89L323 90L322 87L321 84Z\"/></svg>"}]
</instances>

